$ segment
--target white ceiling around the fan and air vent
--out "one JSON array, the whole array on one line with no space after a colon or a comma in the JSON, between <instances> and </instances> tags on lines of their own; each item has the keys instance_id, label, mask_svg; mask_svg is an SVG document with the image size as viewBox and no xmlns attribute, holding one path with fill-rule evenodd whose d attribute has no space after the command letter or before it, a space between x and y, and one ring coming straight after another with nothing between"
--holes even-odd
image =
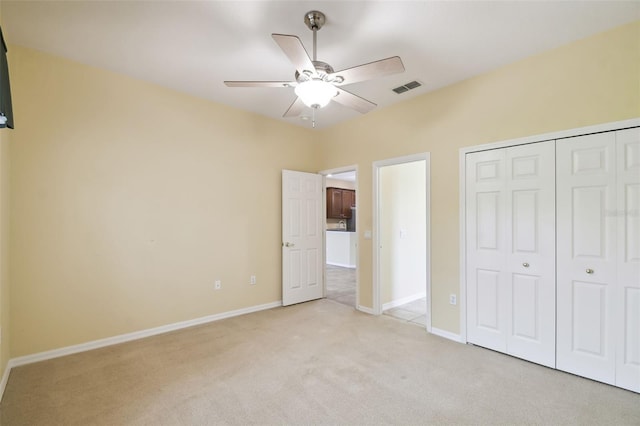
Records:
<instances>
[{"instance_id":1,"label":"white ceiling around the fan and air vent","mask_svg":"<svg viewBox=\"0 0 640 426\"><path fill-rule=\"evenodd\" d=\"M293 80L271 33L312 51L305 12L327 16L318 60L341 70L398 55L405 72L345 89L378 109L640 19L640 1L10 1L5 40L181 92L282 118L292 88L229 88L224 80ZM396 95L417 80L422 87ZM310 110L305 114L309 115ZM332 102L318 127L360 114Z\"/></svg>"}]
</instances>

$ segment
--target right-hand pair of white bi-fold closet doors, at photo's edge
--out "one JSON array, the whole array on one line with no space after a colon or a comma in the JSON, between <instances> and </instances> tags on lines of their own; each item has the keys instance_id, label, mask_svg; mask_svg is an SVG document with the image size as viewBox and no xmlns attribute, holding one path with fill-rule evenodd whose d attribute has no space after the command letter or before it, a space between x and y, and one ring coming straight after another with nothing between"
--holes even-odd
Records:
<instances>
[{"instance_id":1,"label":"right-hand pair of white bi-fold closet doors, at photo's edge","mask_svg":"<svg viewBox=\"0 0 640 426\"><path fill-rule=\"evenodd\" d=\"M640 392L640 129L556 150L557 368Z\"/></svg>"}]
</instances>

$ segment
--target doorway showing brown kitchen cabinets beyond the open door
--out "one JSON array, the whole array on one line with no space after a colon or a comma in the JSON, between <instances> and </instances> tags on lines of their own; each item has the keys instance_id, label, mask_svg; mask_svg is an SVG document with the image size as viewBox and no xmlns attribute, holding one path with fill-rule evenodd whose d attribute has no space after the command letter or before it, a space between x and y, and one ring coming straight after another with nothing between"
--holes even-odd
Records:
<instances>
[{"instance_id":1,"label":"doorway showing brown kitchen cabinets beyond the open door","mask_svg":"<svg viewBox=\"0 0 640 426\"><path fill-rule=\"evenodd\" d=\"M357 166L321 172L325 177L325 291L327 299L358 305Z\"/></svg>"}]
</instances>

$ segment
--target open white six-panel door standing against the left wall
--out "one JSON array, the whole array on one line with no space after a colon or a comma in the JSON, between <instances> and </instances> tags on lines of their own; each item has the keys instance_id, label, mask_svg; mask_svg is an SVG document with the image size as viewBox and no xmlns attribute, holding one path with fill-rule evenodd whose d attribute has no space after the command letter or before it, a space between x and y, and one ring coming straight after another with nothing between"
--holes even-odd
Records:
<instances>
[{"instance_id":1,"label":"open white six-panel door standing against the left wall","mask_svg":"<svg viewBox=\"0 0 640 426\"><path fill-rule=\"evenodd\" d=\"M322 176L282 171L282 304L323 297Z\"/></svg>"}]
</instances>

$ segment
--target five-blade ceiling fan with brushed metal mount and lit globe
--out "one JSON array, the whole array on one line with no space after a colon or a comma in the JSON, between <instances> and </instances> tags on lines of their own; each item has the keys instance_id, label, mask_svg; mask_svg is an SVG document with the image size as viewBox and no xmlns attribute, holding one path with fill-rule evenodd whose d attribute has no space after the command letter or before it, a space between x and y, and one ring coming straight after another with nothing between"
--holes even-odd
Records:
<instances>
[{"instance_id":1,"label":"five-blade ceiling fan with brushed metal mount and lit globe","mask_svg":"<svg viewBox=\"0 0 640 426\"><path fill-rule=\"evenodd\" d=\"M271 34L278 46L296 68L293 81L225 81L229 87L293 87L297 98L283 117L300 115L305 106L315 110L326 106L331 100L360 113L367 113L376 104L342 88L347 84L383 77L404 71L399 56L358 65L342 71L334 71L331 65L318 61L316 57L317 32L325 23L325 15L313 10L304 15L304 22L313 31L313 59L311 59L300 39L294 35ZM315 127L315 119L313 122Z\"/></svg>"}]
</instances>

